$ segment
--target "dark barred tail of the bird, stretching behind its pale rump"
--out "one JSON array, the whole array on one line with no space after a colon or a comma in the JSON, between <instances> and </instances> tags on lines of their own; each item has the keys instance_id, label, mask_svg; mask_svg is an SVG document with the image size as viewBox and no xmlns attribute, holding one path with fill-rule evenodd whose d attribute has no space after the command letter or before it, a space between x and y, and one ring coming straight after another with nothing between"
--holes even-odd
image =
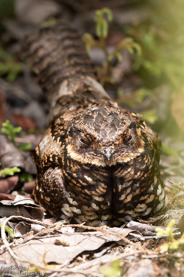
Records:
<instances>
[{"instance_id":1,"label":"dark barred tail of the bird, stretching behind its pale rump","mask_svg":"<svg viewBox=\"0 0 184 277\"><path fill-rule=\"evenodd\" d=\"M66 23L59 22L29 33L22 42L22 53L47 92L53 92L70 78L94 78L91 62L78 32Z\"/></svg>"}]
</instances>

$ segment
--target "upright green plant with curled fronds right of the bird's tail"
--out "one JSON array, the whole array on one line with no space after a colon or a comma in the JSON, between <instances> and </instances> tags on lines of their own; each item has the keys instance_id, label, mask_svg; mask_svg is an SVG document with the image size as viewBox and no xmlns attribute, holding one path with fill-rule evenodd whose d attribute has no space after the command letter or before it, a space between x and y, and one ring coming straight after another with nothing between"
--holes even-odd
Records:
<instances>
[{"instance_id":1,"label":"upright green plant with curled fronds right of the bird's tail","mask_svg":"<svg viewBox=\"0 0 184 277\"><path fill-rule=\"evenodd\" d=\"M86 45L86 50L89 51L91 47L101 48L105 55L106 60L103 64L103 68L97 68L99 73L102 75L101 83L105 82L113 83L113 79L110 77L112 66L111 61L114 57L120 61L122 59L121 50L127 49L131 54L141 55L141 48L138 43L134 41L133 38L124 38L115 48L113 53L109 54L106 46L106 38L109 32L109 22L113 20L113 15L111 10L108 8L103 8L101 10L96 10L94 15L94 21L96 22L96 35L99 40L93 38L89 33L83 35L83 41Z\"/></svg>"}]
</instances>

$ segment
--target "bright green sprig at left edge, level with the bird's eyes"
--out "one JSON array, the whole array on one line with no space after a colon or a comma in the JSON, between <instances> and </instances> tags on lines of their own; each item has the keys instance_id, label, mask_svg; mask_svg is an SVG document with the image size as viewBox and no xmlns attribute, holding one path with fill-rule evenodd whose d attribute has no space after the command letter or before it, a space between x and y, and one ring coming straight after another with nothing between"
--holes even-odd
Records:
<instances>
[{"instance_id":1,"label":"bright green sprig at left edge, level with the bird's eyes","mask_svg":"<svg viewBox=\"0 0 184 277\"><path fill-rule=\"evenodd\" d=\"M23 146L18 146L15 141L15 134L20 133L21 130L22 128L20 126L14 127L9 120L6 120L2 123L2 133L6 134L19 150L26 151L31 148L31 143L27 143Z\"/></svg>"}]
</instances>

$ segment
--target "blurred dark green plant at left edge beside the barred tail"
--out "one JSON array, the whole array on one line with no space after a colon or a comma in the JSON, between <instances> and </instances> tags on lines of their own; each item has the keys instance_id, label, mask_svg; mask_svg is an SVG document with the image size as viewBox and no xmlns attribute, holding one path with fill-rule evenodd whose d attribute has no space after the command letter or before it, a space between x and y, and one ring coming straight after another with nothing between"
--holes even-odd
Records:
<instances>
[{"instance_id":1,"label":"blurred dark green plant at left edge beside the barred tail","mask_svg":"<svg viewBox=\"0 0 184 277\"><path fill-rule=\"evenodd\" d=\"M14 57L0 48L0 76L7 75L7 81L13 82L17 75L22 72L22 63L16 62Z\"/></svg>"}]
</instances>

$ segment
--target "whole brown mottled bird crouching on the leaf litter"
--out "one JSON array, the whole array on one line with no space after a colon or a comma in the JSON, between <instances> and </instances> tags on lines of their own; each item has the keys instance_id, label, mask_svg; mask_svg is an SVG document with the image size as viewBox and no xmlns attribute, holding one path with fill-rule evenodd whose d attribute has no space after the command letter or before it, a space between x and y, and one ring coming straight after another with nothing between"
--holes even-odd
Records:
<instances>
[{"instance_id":1,"label":"whole brown mottled bird crouching on the leaf litter","mask_svg":"<svg viewBox=\"0 0 184 277\"><path fill-rule=\"evenodd\" d=\"M63 23L34 30L22 50L50 103L34 157L35 201L52 216L90 226L160 211L159 137L96 81L79 34Z\"/></svg>"}]
</instances>

